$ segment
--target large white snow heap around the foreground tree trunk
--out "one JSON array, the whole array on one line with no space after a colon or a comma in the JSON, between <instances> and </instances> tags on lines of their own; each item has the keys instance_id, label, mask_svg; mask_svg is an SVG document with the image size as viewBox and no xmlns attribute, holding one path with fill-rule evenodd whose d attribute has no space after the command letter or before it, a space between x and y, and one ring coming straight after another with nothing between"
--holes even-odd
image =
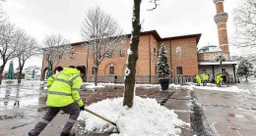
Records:
<instances>
[{"instance_id":1,"label":"large white snow heap around the foreground tree trunk","mask_svg":"<svg viewBox=\"0 0 256 136\"><path fill-rule=\"evenodd\" d=\"M105 99L94 103L87 109L116 122L119 133L111 136L162 136L179 135L180 127L186 124L178 118L173 110L161 107L156 99L135 97L131 109L123 107L123 98ZM85 121L84 133L111 132L114 126L88 112L82 112L79 117Z\"/></svg>"}]
</instances>

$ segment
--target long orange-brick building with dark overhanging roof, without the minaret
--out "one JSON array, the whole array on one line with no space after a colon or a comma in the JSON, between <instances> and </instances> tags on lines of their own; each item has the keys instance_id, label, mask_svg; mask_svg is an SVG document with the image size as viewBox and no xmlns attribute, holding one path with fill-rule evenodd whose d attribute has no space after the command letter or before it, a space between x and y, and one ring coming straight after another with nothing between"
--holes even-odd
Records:
<instances>
[{"instance_id":1,"label":"long orange-brick building with dark overhanging roof, without the minaret","mask_svg":"<svg viewBox=\"0 0 256 136\"><path fill-rule=\"evenodd\" d=\"M127 50L130 44L130 36L127 35L124 50L106 57L98 68L99 82L113 82L117 75L117 82L124 82L124 73L127 61ZM158 51L160 44L167 49L167 60L171 66L172 82L192 81L193 75L198 73L197 44L201 34L191 34L176 37L161 38L156 30L141 32L139 43L139 59L136 66L136 82L159 83L157 76ZM88 52L83 42L73 43L74 55L58 64L59 67L85 66L87 68L87 81L94 81L94 62L91 52ZM55 67L57 68L57 67ZM42 79L45 78L47 61L43 57Z\"/></svg>"}]
</instances>

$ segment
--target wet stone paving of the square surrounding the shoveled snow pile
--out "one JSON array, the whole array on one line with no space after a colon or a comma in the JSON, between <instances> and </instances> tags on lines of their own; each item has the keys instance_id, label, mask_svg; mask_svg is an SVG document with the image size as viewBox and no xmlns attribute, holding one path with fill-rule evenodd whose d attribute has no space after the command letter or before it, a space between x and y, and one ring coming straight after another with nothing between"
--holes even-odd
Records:
<instances>
[{"instance_id":1,"label":"wet stone paving of the square surrounding the shoveled snow pile","mask_svg":"<svg viewBox=\"0 0 256 136\"><path fill-rule=\"evenodd\" d=\"M10 88L12 88L10 92L6 91ZM34 92L34 90L37 90L37 92ZM4 94L3 91L5 91ZM20 93L18 97L16 97L17 92ZM169 88L168 92L160 92L159 88L137 88L136 93L141 97L156 98L160 105L174 110L179 118L190 123L191 126L182 128L182 136L194 134L253 136L256 133L255 95L210 90L190 91L187 88ZM123 87L120 86L81 91L81 96L86 98L86 104L88 105L105 98L122 95ZM13 87L2 85L0 86L0 96L0 136L26 136L44 113L45 85L27 84L26 86ZM28 101L28 99L30 99L32 105L23 105L22 102ZM36 105L33 105L34 99L36 99ZM21 103L19 108L13 106L17 100ZM67 117L67 114L59 113L50 122L50 125L42 131L40 136L59 135ZM79 134L78 127L74 127L74 130L76 130L78 136L109 135Z\"/></svg>"}]
</instances>

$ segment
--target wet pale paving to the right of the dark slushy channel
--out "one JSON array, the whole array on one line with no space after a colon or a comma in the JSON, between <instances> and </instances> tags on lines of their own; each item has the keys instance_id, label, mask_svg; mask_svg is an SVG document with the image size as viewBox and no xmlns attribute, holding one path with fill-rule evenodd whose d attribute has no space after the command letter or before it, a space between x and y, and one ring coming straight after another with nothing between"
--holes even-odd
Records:
<instances>
[{"instance_id":1,"label":"wet pale paving to the right of the dark slushy channel","mask_svg":"<svg viewBox=\"0 0 256 136\"><path fill-rule=\"evenodd\" d=\"M256 96L196 90L197 103L217 136L255 136Z\"/></svg>"}]
</instances>

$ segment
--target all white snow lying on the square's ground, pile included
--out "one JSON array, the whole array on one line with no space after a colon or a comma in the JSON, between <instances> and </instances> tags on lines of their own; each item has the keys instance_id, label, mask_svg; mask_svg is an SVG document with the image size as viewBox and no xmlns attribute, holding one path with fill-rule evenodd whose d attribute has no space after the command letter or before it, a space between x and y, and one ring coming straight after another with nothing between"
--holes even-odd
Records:
<instances>
[{"instance_id":1,"label":"all white snow lying on the square's ground, pile included","mask_svg":"<svg viewBox=\"0 0 256 136\"><path fill-rule=\"evenodd\" d=\"M21 100L21 108L29 108L29 105L36 104L38 99L34 98L34 89L38 90L41 87L46 89L45 82L38 80L22 80L22 84L19 85L17 80L13 83L6 83L7 80L3 80L3 84L0 86L3 91L0 92L3 102L8 101L8 106L4 104L1 106L3 110L12 109L14 100L17 98L17 92L20 88L18 99ZM9 86L12 85L14 88L10 90ZM88 89L96 88L107 88L107 86L124 86L124 84L114 83L98 83L96 87L94 83L85 83L83 85ZM137 88L154 88L160 90L160 84L136 84ZM179 90L180 88L187 88L191 91L196 89L202 90L216 90L216 91L228 91L228 92L239 92L244 93L246 96L256 97L256 78L249 78L248 82L241 80L241 83L229 84L222 87L217 87L216 84L208 84L207 86L196 86L194 83L188 83L187 85L170 84L170 90ZM28 90L29 91L25 91ZM43 88L42 88L43 89ZM26 92L26 93L25 93ZM10 96L12 99L6 99L5 96ZM32 96L33 95L33 96ZM38 92L36 93L38 95ZM243 95L243 94L242 94ZM26 97L25 97L26 96ZM28 99L28 96L30 99ZM183 122L178 118L178 115L173 110L168 110L160 104L156 99L152 98L141 98L136 96L134 98L134 106L131 109L122 106L123 98L105 99L100 102L94 103L87 107L87 109L98 113L117 124L117 128L120 133L112 134L122 136L162 136L162 135L179 135L182 127L189 124ZM10 107L9 107L10 106ZM86 122L84 130L86 133L94 132L109 132L114 129L114 126L108 122L96 117L92 113L82 112L79 119ZM81 126L84 127L84 126Z\"/></svg>"}]
</instances>

